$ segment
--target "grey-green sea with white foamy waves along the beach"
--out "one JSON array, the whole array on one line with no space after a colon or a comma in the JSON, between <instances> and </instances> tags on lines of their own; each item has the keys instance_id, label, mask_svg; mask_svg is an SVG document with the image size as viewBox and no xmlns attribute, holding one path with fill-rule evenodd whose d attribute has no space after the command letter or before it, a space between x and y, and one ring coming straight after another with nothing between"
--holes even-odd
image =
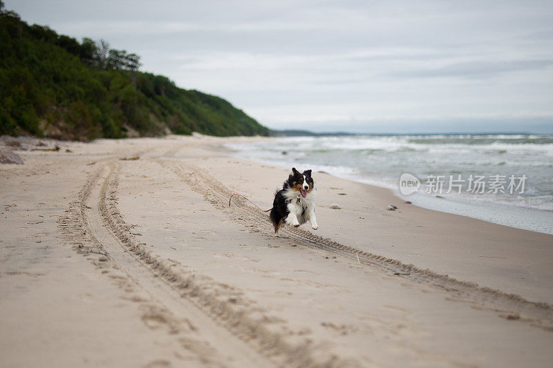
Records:
<instances>
[{"instance_id":1,"label":"grey-green sea with white foamy waves along the beach","mask_svg":"<svg viewBox=\"0 0 553 368\"><path fill-rule=\"evenodd\" d=\"M389 188L398 207L409 200L553 234L553 135L336 135L224 146L237 157Z\"/></svg>"}]
</instances>

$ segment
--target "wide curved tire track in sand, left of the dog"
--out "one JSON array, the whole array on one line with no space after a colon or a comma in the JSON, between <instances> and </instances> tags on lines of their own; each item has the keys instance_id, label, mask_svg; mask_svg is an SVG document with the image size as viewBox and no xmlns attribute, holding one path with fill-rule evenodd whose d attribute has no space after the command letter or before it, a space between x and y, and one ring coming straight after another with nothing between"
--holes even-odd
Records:
<instances>
[{"instance_id":1,"label":"wide curved tire track in sand, left of the dog","mask_svg":"<svg viewBox=\"0 0 553 368\"><path fill-rule=\"evenodd\" d=\"M174 260L158 258L146 244L137 242L117 208L119 165L109 162L91 175L59 226L78 253L102 269L123 271L124 275L115 275L123 289L132 291L138 286L162 304L146 320L164 322L170 333L188 334L180 338L182 346L207 366L341 364L335 356L314 354L309 342L290 344L286 340L290 331L279 331L279 321L244 298L241 291L186 271Z\"/></svg>"}]
</instances>

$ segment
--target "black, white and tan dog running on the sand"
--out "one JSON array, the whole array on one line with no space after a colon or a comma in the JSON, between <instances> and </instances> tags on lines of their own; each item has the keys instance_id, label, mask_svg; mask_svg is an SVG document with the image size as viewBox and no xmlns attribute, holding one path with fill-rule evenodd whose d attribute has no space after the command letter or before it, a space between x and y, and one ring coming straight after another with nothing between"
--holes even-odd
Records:
<instances>
[{"instance_id":1,"label":"black, white and tan dog running on the sand","mask_svg":"<svg viewBox=\"0 0 553 368\"><path fill-rule=\"evenodd\" d=\"M282 189L274 193L270 219L274 225L275 235L280 237L282 222L298 227L309 220L314 230L319 229L317 217L315 217L316 194L317 189L315 189L311 171L300 173L293 167Z\"/></svg>"}]
</instances>

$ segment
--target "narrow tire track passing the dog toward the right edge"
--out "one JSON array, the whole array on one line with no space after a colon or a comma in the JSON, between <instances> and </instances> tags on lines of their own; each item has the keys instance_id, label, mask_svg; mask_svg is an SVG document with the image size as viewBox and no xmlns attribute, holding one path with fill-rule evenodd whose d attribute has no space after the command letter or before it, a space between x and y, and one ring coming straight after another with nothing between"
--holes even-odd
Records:
<instances>
[{"instance_id":1,"label":"narrow tire track passing the dog toward the right edge","mask_svg":"<svg viewBox=\"0 0 553 368\"><path fill-rule=\"evenodd\" d=\"M160 159L159 162L163 166L171 168L194 191L203 194L206 200L209 200L209 202L212 202L219 209L224 209L232 215L236 222L240 222L247 228L250 228L251 231L266 233L268 234L268 238L272 238L274 229L267 213L263 213L242 198L236 196L233 197L230 208L228 207L228 203L222 203L223 200L228 200L233 193L236 193L235 191L227 188L227 186L194 165L187 164L185 167L181 162L168 159ZM552 304L532 302L515 294L504 293L503 291L489 287L480 287L474 282L456 280L448 275L441 275L429 269L420 269L415 267L414 264L404 264L399 260L386 258L382 255L369 253L355 249L353 246L347 246L327 238L322 238L304 229L283 226L281 234L289 238L291 244L324 251L329 255L337 255L354 262L359 262L360 264L382 271L387 275L393 275L397 278L445 291L454 297L448 300L469 302L474 309L494 311L501 318L521 320L533 327L553 331Z\"/></svg>"}]
</instances>

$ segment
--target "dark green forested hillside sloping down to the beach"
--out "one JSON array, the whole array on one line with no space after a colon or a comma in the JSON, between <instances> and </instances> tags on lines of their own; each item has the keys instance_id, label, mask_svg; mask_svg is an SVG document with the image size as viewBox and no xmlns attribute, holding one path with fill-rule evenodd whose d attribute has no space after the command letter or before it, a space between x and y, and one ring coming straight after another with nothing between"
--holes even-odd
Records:
<instances>
[{"instance_id":1,"label":"dark green forested hillside sloping down to the beach","mask_svg":"<svg viewBox=\"0 0 553 368\"><path fill-rule=\"evenodd\" d=\"M0 1L0 134L78 139L268 135L225 99L140 72L109 43L29 26Z\"/></svg>"}]
</instances>

